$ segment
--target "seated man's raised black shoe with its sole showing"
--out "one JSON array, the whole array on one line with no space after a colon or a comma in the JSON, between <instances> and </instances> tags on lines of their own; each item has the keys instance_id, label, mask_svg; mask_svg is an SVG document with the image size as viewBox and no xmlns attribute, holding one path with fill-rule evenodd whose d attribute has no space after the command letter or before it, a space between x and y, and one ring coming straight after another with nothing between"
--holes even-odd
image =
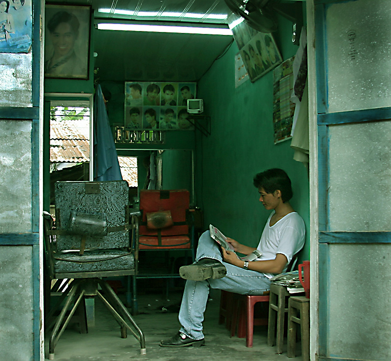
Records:
<instances>
[{"instance_id":1,"label":"seated man's raised black shoe with its sole showing","mask_svg":"<svg viewBox=\"0 0 391 361\"><path fill-rule=\"evenodd\" d=\"M201 258L189 266L182 266L179 275L192 281L203 281L208 278L223 278L227 274L226 267L212 258Z\"/></svg>"}]
</instances>

